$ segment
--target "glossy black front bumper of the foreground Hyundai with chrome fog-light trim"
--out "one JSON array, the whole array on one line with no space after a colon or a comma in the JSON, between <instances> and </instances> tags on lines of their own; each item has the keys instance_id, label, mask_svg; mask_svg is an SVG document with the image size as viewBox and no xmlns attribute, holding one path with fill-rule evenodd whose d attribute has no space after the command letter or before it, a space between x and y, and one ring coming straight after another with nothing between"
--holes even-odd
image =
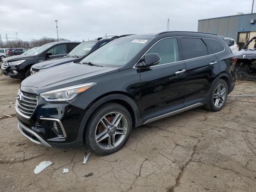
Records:
<instances>
[{"instance_id":1,"label":"glossy black front bumper of the foreground Hyundai with chrome fog-light trim","mask_svg":"<svg viewBox=\"0 0 256 192\"><path fill-rule=\"evenodd\" d=\"M83 145L83 136L78 134L85 110L68 103L49 103L37 96L38 104L31 116L26 116L16 103L16 117L20 132L32 142L55 148L75 148ZM26 99L26 98L24 98ZM18 101L16 101L18 102ZM22 108L23 109L23 108ZM54 130L54 122L58 122Z\"/></svg>"}]
</instances>

